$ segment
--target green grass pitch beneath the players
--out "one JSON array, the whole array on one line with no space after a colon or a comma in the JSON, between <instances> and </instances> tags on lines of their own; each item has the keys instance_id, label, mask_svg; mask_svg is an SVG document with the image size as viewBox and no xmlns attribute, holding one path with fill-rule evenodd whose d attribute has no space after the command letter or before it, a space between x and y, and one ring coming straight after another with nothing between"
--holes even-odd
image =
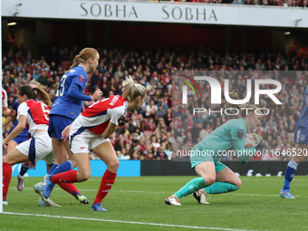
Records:
<instances>
[{"instance_id":1,"label":"green grass pitch beneath the players","mask_svg":"<svg viewBox=\"0 0 308 231\"><path fill-rule=\"evenodd\" d=\"M210 195L210 205L183 197L181 207L164 200L192 177L117 178L102 201L108 212L91 211L58 186L52 199L62 207L38 207L33 186L41 179L24 178L19 192L12 178L4 206L10 214L0 214L0 230L308 230L307 177L294 178L295 199L278 197L283 177L241 177L236 192ZM76 186L92 202L100 182L90 178Z\"/></svg>"}]
</instances>

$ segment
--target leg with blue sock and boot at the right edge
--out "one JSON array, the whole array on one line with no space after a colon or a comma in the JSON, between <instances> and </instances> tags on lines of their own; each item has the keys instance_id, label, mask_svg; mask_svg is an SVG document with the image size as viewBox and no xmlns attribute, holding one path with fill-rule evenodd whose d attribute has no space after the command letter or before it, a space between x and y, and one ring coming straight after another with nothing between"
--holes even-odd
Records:
<instances>
[{"instance_id":1,"label":"leg with blue sock and boot at the right edge","mask_svg":"<svg viewBox=\"0 0 308 231\"><path fill-rule=\"evenodd\" d=\"M304 154L307 154L308 145L305 143L295 143L296 155L289 161L284 174L284 187L279 196L283 198L294 198L290 192L290 184L294 178L297 166L303 161Z\"/></svg>"}]
</instances>

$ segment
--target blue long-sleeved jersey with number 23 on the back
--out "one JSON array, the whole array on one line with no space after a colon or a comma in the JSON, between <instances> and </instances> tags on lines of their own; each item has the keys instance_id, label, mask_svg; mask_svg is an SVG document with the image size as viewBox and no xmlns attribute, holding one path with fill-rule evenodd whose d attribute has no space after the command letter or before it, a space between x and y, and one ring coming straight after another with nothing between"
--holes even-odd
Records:
<instances>
[{"instance_id":1,"label":"blue long-sleeved jersey with number 23 on the back","mask_svg":"<svg viewBox=\"0 0 308 231\"><path fill-rule=\"evenodd\" d=\"M88 74L81 65L72 68L70 72L64 73L58 90L56 91L50 115L62 115L72 118L73 120L76 119L82 111L82 100L72 98L72 93L83 94L87 80ZM77 92L70 91L70 88L72 88L74 84L78 85ZM91 97L88 96L87 99L89 98Z\"/></svg>"}]
</instances>

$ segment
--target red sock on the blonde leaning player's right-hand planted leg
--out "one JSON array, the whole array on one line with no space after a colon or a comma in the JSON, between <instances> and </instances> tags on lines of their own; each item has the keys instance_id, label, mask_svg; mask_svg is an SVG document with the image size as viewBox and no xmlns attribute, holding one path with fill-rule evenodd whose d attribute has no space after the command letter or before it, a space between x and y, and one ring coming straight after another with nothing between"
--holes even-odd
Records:
<instances>
[{"instance_id":1,"label":"red sock on the blonde leaning player's right-hand planted leg","mask_svg":"<svg viewBox=\"0 0 308 231\"><path fill-rule=\"evenodd\" d=\"M105 171L105 174L101 178L101 186L100 186L99 191L97 192L93 205L97 203L101 203L101 200L107 196L107 194L111 190L111 187L116 177L117 177L117 173L113 173L109 171L108 169Z\"/></svg>"}]
</instances>

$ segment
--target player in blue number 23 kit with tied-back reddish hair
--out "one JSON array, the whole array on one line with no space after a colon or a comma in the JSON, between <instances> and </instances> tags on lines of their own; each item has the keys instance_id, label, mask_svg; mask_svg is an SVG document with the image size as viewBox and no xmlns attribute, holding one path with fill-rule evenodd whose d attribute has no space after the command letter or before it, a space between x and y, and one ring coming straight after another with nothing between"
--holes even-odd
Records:
<instances>
[{"instance_id":1,"label":"player in blue number 23 kit with tied-back reddish hair","mask_svg":"<svg viewBox=\"0 0 308 231\"><path fill-rule=\"evenodd\" d=\"M84 95L88 81L88 73L95 72L100 54L93 48L84 48L75 56L70 69L64 73L53 101L53 108L49 114L48 133L53 141L55 163L48 174L58 174L75 168L76 162L72 156L69 140L62 140L62 132L70 125L82 111L82 101L95 101L101 95L101 90L91 96ZM68 159L69 158L69 159ZM41 182L42 184L42 182ZM73 184L58 183L65 191L76 197L82 204L89 201ZM42 187L40 183L34 186L34 191Z\"/></svg>"}]
</instances>

